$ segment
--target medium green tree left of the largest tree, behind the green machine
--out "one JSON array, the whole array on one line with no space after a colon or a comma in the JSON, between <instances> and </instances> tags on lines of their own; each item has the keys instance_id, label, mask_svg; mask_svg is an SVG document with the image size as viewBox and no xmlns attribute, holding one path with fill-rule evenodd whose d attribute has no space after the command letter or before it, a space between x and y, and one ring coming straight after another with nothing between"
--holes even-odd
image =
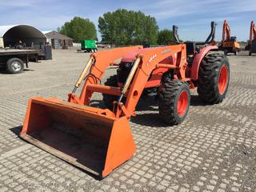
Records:
<instances>
[{"instance_id":1,"label":"medium green tree left of the largest tree, behind the green machine","mask_svg":"<svg viewBox=\"0 0 256 192\"><path fill-rule=\"evenodd\" d=\"M60 33L73 38L74 42L97 38L96 27L88 18L74 17L70 22L65 22Z\"/></svg>"}]
</instances>

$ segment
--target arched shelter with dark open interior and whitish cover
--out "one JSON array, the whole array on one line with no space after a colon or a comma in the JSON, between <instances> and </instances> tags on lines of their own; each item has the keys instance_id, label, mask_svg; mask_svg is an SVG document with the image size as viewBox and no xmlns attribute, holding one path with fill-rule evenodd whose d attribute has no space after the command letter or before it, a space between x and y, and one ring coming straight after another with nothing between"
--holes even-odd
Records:
<instances>
[{"instance_id":1,"label":"arched shelter with dark open interior and whitish cover","mask_svg":"<svg viewBox=\"0 0 256 192\"><path fill-rule=\"evenodd\" d=\"M0 38L4 46L11 47L15 46L20 40L27 47L46 43L45 34L34 26L29 25L0 26Z\"/></svg>"}]
</instances>

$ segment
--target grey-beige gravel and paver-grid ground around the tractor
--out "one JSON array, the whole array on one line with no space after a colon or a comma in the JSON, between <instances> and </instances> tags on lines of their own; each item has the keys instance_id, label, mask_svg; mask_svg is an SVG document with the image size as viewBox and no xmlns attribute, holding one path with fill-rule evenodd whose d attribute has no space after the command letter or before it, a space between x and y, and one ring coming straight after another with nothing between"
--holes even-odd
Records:
<instances>
[{"instance_id":1,"label":"grey-beige gravel and paver-grid ground around the tractor","mask_svg":"<svg viewBox=\"0 0 256 192\"><path fill-rule=\"evenodd\" d=\"M54 50L22 74L0 71L0 191L256 191L256 56L245 54L229 56L224 102L205 106L192 91L179 126L162 123L154 99L143 98L130 121L137 152L102 180L18 137L28 98L66 99L89 54Z\"/></svg>"}]
</instances>

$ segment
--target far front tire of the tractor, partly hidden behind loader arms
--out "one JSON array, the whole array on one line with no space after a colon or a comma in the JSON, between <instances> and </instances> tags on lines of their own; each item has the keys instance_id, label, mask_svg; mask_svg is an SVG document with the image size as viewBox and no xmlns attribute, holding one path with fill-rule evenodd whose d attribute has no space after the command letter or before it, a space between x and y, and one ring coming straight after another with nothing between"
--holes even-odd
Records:
<instances>
[{"instance_id":1,"label":"far front tire of the tractor, partly hidden behind loader arms","mask_svg":"<svg viewBox=\"0 0 256 192\"><path fill-rule=\"evenodd\" d=\"M106 82L104 83L105 86L118 86L118 76L112 75L110 78L106 79ZM103 102L107 109L113 110L113 102L118 100L118 96L112 95L112 94L102 94L103 96Z\"/></svg>"}]
</instances>

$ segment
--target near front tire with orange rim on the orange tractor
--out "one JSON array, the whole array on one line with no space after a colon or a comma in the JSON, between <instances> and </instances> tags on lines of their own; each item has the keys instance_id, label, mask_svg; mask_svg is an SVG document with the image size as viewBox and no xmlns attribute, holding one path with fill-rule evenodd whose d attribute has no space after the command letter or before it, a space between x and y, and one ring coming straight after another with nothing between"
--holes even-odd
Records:
<instances>
[{"instance_id":1,"label":"near front tire with orange rim on the orange tractor","mask_svg":"<svg viewBox=\"0 0 256 192\"><path fill-rule=\"evenodd\" d=\"M188 84L179 80L166 80L159 90L158 107L164 122L170 125L183 122L190 108Z\"/></svg>"}]
</instances>

